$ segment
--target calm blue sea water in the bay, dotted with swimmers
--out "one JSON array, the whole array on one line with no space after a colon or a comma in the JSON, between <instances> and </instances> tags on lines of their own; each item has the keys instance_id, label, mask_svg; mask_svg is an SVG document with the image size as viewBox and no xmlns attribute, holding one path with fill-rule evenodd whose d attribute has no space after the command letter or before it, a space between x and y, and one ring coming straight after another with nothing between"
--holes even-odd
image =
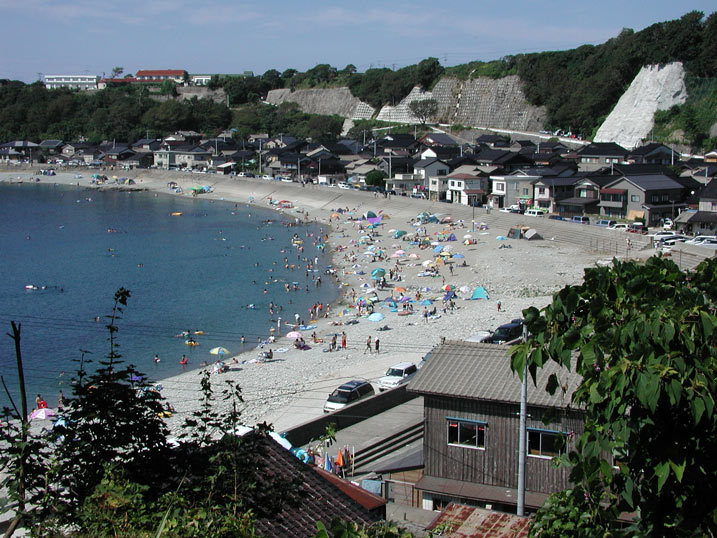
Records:
<instances>
[{"instance_id":1,"label":"calm blue sea water in the bay, dotted with swimmers","mask_svg":"<svg viewBox=\"0 0 717 538\"><path fill-rule=\"evenodd\" d=\"M294 222L269 209L201 197L0 185L0 375L13 398L19 391L10 321L22 324L29 405L42 393L54 406L60 389L71 394L82 356L93 361L89 368L106 357L104 316L120 287L131 297L117 322L119 352L154 380L181 373L183 354L191 369L216 360L209 354L216 346L253 350L278 317L285 334L295 313L307 320L313 303L338 294L324 275L330 259L315 244L320 228L287 226ZM303 253L292 245L295 233ZM318 261L308 275L305 257ZM204 333L196 336L198 346L176 336L184 330ZM0 387L0 406L8 403Z\"/></svg>"}]
</instances>

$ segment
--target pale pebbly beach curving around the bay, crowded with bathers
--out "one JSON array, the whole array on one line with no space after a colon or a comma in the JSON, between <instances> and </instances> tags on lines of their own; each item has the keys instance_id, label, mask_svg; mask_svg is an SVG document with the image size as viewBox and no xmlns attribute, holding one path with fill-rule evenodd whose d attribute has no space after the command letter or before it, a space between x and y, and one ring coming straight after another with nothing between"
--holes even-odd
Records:
<instances>
[{"instance_id":1,"label":"pale pebbly beach curving around the bay, crowded with bathers","mask_svg":"<svg viewBox=\"0 0 717 538\"><path fill-rule=\"evenodd\" d=\"M92 173L89 170L60 172L53 177L43 176L41 182L79 184L88 189L117 188L114 185L92 186ZM272 207L272 199L289 200L294 207L283 210L285 213L302 221L316 221L322 227L328 236L327 245L332 252L337 280L333 281L328 275L322 275L322 278L324 285L338 285L341 295L331 305L328 317L318 317L311 321L316 325L314 329L303 331L310 349L295 349L292 339L281 337L265 347L272 349L273 360L262 360L259 350L248 349L250 344L247 343L245 352L236 356L236 363L234 357L225 358L230 366L228 372L212 374L213 381L218 385L225 379L232 379L242 388L245 424L267 421L277 431L320 416L327 393L340 383L355 378L375 381L391 364L405 360L420 361L442 338L468 338L478 331L495 329L502 323L521 317L522 310L529 306L543 307L550 302L552 293L566 284L582 281L585 267L609 259L604 254L586 252L576 245L561 242L559 238L530 242L496 240L497 236L507 235L510 225L519 223L522 216L497 211L486 214L482 208L474 210L405 197L384 198L369 192L323 186L302 187L294 183L214 174L162 171L105 173L110 177L131 177L136 184L122 188L149 190L157 196L178 196L167 188L168 182L175 181L184 193L188 193L191 186L210 185L212 192L201 196L218 201ZM34 181L35 177L30 170L0 171L0 181ZM350 215L342 213L336 216L339 208L348 210ZM359 244L359 238L367 234L368 223L354 219L359 219L367 211L384 218L379 226L371 230L374 236L370 241ZM421 234L425 233L431 242L449 247L451 254L459 255L447 257L448 263L439 263L437 276L424 276L424 263L436 259L436 245L421 249L409 241L395 239L394 233L389 231L415 232L418 227L413 225L412 219L424 211L440 213L442 218L451 217L451 223L421 225ZM478 226L484 222L486 229L474 231L474 218ZM438 241L438 234L442 232L453 233L457 240ZM473 244L464 244L467 235L474 240ZM374 260L373 256L364 255L371 245L375 250L382 250L386 259ZM395 254L396 251L405 254ZM308 246L306 255L312 255ZM375 294L367 293L366 288L373 288L376 283L371 279L371 273L377 268L385 269L387 286L376 289ZM395 280L390 279L391 269L395 270ZM452 307L450 302L442 300L446 293L443 288L447 285L453 286L457 292ZM466 300L477 286L483 286L489 298ZM420 293L418 300L417 293ZM397 302L396 308L392 309L386 300L392 294L396 299L406 296L415 301L406 303L413 306L414 313L399 315L403 312L404 303L401 302ZM374 312L383 314L384 319L370 321L365 309L359 314L355 308L359 297L377 297L377 300L374 299ZM425 308L436 309L436 315L428 319L423 316L424 306L420 304L426 299L431 304ZM305 313L301 315L305 318ZM293 313L287 317L291 316ZM269 318L267 312L267 320ZM388 329L379 330L383 327ZM323 342L314 343L311 340L313 332ZM345 349L340 348L342 332L346 334ZM338 335L339 349L326 351L333 334ZM372 344L372 352L367 352L369 337L374 343L377 338L380 339L378 353L375 344ZM251 344L252 347L255 345ZM238 351L242 346L235 342L229 343L228 347ZM199 376L200 372L193 370L161 382L163 396L175 409L168 419L173 430L196 408Z\"/></svg>"}]
</instances>

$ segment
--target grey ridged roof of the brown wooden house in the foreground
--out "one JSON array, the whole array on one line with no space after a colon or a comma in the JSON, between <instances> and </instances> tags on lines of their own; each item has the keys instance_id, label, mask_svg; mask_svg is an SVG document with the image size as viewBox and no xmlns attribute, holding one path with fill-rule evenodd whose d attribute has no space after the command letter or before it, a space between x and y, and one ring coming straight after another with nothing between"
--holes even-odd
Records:
<instances>
[{"instance_id":1,"label":"grey ridged roof of the brown wooden house in the foreground","mask_svg":"<svg viewBox=\"0 0 717 538\"><path fill-rule=\"evenodd\" d=\"M430 359L408 384L408 390L419 394L520 402L520 378L510 369L510 346L476 342L446 341L435 347ZM558 374L567 393L557 390L554 396L545 391L552 373ZM528 383L528 404L565 407L582 377L568 372L552 361L538 369L537 387Z\"/></svg>"}]
</instances>

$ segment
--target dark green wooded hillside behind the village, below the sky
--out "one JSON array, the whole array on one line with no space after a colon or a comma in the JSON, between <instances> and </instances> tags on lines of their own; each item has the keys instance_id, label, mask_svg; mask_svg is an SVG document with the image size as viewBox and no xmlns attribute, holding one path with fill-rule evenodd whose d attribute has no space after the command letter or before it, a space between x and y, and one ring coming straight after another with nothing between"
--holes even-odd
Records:
<instances>
[{"instance_id":1,"label":"dark green wooded hillside behind the village, below the sky","mask_svg":"<svg viewBox=\"0 0 717 538\"><path fill-rule=\"evenodd\" d=\"M507 56L492 62L447 68L436 58L428 58L395 71L380 68L359 73L353 65L338 69L321 64L303 73L270 69L258 76L214 77L210 87L225 90L233 111L210 100L159 103L148 88L136 86L78 94L46 90L39 83L0 81L0 139L86 136L127 140L145 134L161 136L176 129L212 134L229 126L244 132L272 130L274 126L296 128L299 124L306 134L333 136L340 118L331 118L330 128L324 125L328 119L314 118L311 126L311 118L302 116L295 106L284 107L281 114L269 114L257 107L244 110L242 105L261 102L273 89L344 86L378 109L399 103L415 86L430 90L442 77L467 80L506 75L518 75L527 100L545 107L546 128L590 136L642 66L673 61L685 66L688 102L658 113L655 132L667 136L680 130L693 145L709 146L713 141L708 133L717 123L717 12L705 17L696 11L639 32L624 29L601 45Z\"/></svg>"}]
</instances>

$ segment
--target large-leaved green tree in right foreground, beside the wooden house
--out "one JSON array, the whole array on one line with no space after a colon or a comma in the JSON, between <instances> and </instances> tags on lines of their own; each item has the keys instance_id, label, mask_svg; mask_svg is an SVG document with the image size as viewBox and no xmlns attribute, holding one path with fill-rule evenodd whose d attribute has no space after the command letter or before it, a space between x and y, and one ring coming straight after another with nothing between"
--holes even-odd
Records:
<instances>
[{"instance_id":1,"label":"large-leaved green tree in right foreground, beside the wooden house","mask_svg":"<svg viewBox=\"0 0 717 538\"><path fill-rule=\"evenodd\" d=\"M513 348L513 370L527 363L533 380L549 361L574 370L571 405L586 412L560 460L577 492L563 501L580 509L543 520L602 532L637 511L640 534L717 533L716 307L717 259L683 273L653 257L586 269L581 285L523 311L531 337ZM546 390L565 389L554 374Z\"/></svg>"}]
</instances>

